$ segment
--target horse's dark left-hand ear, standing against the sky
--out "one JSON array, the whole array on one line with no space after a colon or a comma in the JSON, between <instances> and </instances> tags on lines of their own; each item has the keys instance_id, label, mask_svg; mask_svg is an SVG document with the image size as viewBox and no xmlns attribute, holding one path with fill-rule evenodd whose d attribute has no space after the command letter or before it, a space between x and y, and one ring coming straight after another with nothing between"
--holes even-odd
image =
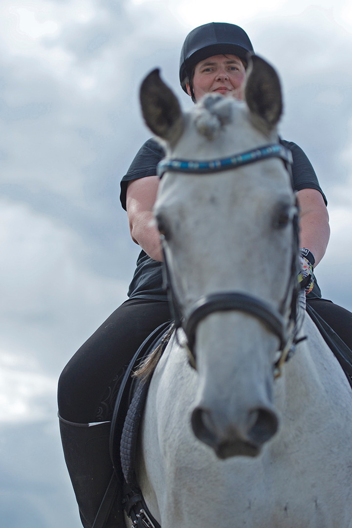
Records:
<instances>
[{"instance_id":1,"label":"horse's dark left-hand ear, standing against the sky","mask_svg":"<svg viewBox=\"0 0 352 528\"><path fill-rule=\"evenodd\" d=\"M184 118L176 96L160 79L158 69L144 79L139 97L150 130L169 143L176 143L183 132Z\"/></svg>"}]
</instances>

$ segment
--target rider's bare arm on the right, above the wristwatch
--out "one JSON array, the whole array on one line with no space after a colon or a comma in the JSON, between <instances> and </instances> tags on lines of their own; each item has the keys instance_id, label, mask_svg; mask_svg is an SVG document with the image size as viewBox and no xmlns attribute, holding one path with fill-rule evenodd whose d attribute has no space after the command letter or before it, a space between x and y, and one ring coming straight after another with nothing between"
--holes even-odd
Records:
<instances>
[{"instance_id":1,"label":"rider's bare arm on the right, above the wristwatch","mask_svg":"<svg viewBox=\"0 0 352 528\"><path fill-rule=\"evenodd\" d=\"M300 248L308 248L313 253L317 266L329 242L328 211L321 193L316 189L298 191L297 199L300 206Z\"/></svg>"}]
</instances>

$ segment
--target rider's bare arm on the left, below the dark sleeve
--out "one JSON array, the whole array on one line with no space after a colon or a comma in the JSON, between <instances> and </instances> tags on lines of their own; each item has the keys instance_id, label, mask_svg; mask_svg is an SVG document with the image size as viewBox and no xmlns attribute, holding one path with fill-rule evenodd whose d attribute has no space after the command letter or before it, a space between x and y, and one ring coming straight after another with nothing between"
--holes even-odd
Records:
<instances>
[{"instance_id":1,"label":"rider's bare arm on the left, below the dark sleeve","mask_svg":"<svg viewBox=\"0 0 352 528\"><path fill-rule=\"evenodd\" d=\"M132 240L154 260L163 260L160 234L153 216L159 186L158 176L146 176L128 183L126 208Z\"/></svg>"}]
</instances>

